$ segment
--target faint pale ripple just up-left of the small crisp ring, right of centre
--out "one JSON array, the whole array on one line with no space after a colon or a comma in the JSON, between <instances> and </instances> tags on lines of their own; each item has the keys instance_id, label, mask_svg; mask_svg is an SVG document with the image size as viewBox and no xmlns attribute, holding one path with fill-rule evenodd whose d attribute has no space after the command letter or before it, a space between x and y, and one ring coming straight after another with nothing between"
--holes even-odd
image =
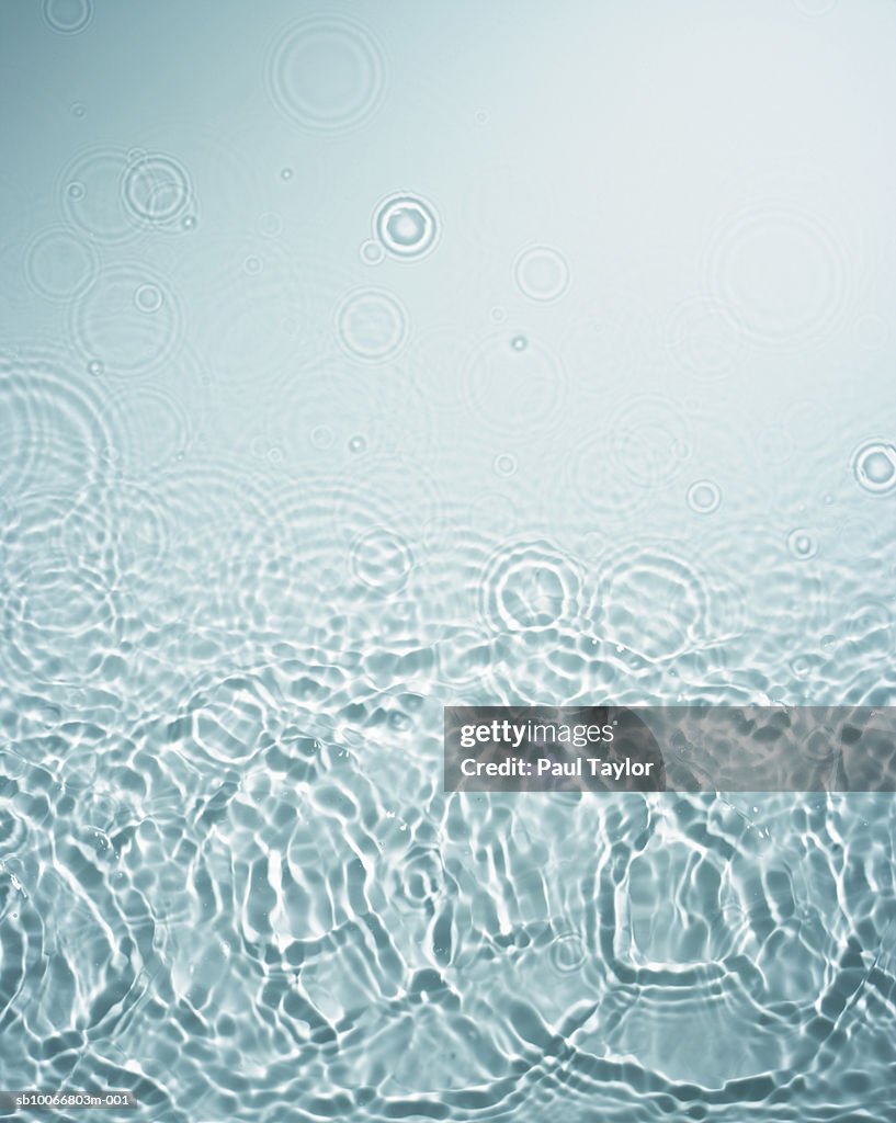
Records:
<instances>
[{"instance_id":1,"label":"faint pale ripple just up-left of the small crisp ring, right of centre","mask_svg":"<svg viewBox=\"0 0 896 1123\"><path fill-rule=\"evenodd\" d=\"M616 463L639 487L658 487L674 480L689 456L687 420L665 399L631 399L614 414L612 433Z\"/></svg>"}]
</instances>

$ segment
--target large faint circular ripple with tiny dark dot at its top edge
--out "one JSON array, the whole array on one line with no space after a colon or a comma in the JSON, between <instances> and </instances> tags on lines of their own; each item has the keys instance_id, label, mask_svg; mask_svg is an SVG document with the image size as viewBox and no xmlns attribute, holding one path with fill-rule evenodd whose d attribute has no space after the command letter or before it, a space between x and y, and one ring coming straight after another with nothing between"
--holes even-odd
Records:
<instances>
[{"instance_id":1,"label":"large faint circular ripple with tiny dark dot at its top edge","mask_svg":"<svg viewBox=\"0 0 896 1123\"><path fill-rule=\"evenodd\" d=\"M556 419L564 398L563 367L531 340L519 348L506 335L494 336L469 363L467 394L484 426L522 439Z\"/></svg>"}]
</instances>

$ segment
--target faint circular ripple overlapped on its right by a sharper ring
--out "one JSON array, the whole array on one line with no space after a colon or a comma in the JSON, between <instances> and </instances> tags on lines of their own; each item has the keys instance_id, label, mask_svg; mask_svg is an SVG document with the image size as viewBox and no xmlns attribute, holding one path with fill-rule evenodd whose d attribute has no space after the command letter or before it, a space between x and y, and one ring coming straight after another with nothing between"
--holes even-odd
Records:
<instances>
[{"instance_id":1,"label":"faint circular ripple overlapped on its right by a sharper ring","mask_svg":"<svg viewBox=\"0 0 896 1123\"><path fill-rule=\"evenodd\" d=\"M65 218L97 241L116 244L134 237L134 221L125 209L121 179L128 155L120 148L89 148L77 155L60 179Z\"/></svg>"}]
</instances>

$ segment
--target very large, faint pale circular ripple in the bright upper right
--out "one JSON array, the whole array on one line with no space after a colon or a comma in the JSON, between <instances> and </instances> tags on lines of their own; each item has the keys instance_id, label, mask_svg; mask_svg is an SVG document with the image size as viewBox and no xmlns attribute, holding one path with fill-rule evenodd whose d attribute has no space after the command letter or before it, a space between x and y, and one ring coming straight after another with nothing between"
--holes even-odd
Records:
<instances>
[{"instance_id":1,"label":"very large, faint pale circular ripple in the bright upper right","mask_svg":"<svg viewBox=\"0 0 896 1123\"><path fill-rule=\"evenodd\" d=\"M843 309L840 249L801 211L738 214L716 237L708 267L712 291L733 323L767 346L793 348L823 338Z\"/></svg>"}]
</instances>

